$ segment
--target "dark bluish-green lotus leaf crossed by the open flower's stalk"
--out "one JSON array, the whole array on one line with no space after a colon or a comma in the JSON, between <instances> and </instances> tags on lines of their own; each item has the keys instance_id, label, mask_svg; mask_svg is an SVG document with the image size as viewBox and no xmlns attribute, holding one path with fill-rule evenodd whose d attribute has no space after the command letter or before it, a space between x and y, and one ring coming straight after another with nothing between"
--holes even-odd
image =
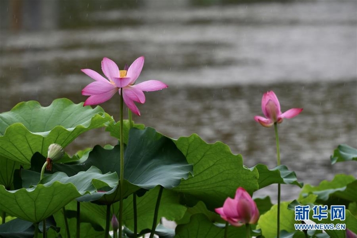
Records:
<instances>
[{"instance_id":1,"label":"dark bluish-green lotus leaf crossed by the open flower's stalk","mask_svg":"<svg viewBox=\"0 0 357 238\"><path fill-rule=\"evenodd\" d=\"M172 140L157 133L154 128L132 128L124 149L124 179L140 188L152 189L161 185L172 189L192 172L192 165L188 165ZM97 145L81 164L54 164L56 170L69 175L87 170L90 166L104 173L111 171L120 175L120 146L105 149Z\"/></svg>"}]
</instances>

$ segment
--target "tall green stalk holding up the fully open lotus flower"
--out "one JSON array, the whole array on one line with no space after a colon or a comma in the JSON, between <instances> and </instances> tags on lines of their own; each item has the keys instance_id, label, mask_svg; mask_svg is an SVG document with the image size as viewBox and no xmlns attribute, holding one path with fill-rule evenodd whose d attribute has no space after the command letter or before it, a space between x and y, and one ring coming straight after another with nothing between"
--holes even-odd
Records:
<instances>
[{"instance_id":1,"label":"tall green stalk holding up the fully open lotus flower","mask_svg":"<svg viewBox=\"0 0 357 238\"><path fill-rule=\"evenodd\" d=\"M124 185L124 133L123 133L123 89L120 88L120 201L119 201L119 238L123 225L123 185Z\"/></svg>"}]
</instances>

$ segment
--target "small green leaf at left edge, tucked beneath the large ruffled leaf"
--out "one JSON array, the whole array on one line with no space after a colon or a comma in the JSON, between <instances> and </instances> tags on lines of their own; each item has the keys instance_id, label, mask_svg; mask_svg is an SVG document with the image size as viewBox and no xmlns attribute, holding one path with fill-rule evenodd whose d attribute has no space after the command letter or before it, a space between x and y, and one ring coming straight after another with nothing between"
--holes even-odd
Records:
<instances>
[{"instance_id":1,"label":"small green leaf at left edge, tucked beneath the large ruffled leaf","mask_svg":"<svg viewBox=\"0 0 357 238\"><path fill-rule=\"evenodd\" d=\"M20 163L0 155L0 184L7 190L13 188L15 169L20 169Z\"/></svg>"}]
</instances>

